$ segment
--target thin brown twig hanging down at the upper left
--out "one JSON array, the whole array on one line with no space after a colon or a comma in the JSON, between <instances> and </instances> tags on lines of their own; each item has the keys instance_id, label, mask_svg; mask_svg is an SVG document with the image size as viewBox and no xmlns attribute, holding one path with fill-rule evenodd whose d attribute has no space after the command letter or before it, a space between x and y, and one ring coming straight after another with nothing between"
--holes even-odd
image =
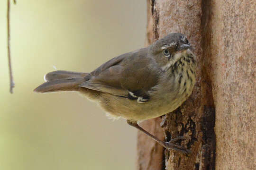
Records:
<instances>
[{"instance_id":1,"label":"thin brown twig hanging down at the upper left","mask_svg":"<svg viewBox=\"0 0 256 170\"><path fill-rule=\"evenodd\" d=\"M14 4L16 4L16 0L13 0ZM11 55L10 55L10 0L7 0L7 53L8 53L8 63L9 63L9 79L10 79L10 93L13 93L13 76L12 76L12 68L11 68Z\"/></svg>"}]
</instances>

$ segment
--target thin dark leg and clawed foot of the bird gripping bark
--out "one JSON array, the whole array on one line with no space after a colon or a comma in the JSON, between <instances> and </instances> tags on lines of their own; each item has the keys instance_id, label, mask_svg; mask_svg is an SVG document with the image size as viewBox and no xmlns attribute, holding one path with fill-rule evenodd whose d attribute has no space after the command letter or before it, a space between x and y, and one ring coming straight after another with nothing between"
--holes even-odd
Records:
<instances>
[{"instance_id":1,"label":"thin dark leg and clawed foot of the bird gripping bark","mask_svg":"<svg viewBox=\"0 0 256 170\"><path fill-rule=\"evenodd\" d=\"M174 144L176 141L178 140L183 140L185 139L185 137L182 137L182 136L179 136L179 137L176 137L172 140L170 140L169 142L164 142L160 139L158 139L156 136L150 134L149 132L147 132L144 128L140 127L138 124L137 124L137 121L133 121L133 120L127 120L127 123L130 125L130 126L133 126L133 127L136 127L137 129L139 129L140 131L144 132L147 136L150 136L152 137L156 142L158 142L159 144L161 144L162 146L164 146L166 149L168 149L169 151L170 150L175 150L175 151L179 151L179 152L182 152L182 153L190 153L190 150L180 146L180 145L177 145L177 144Z\"/></svg>"}]
</instances>

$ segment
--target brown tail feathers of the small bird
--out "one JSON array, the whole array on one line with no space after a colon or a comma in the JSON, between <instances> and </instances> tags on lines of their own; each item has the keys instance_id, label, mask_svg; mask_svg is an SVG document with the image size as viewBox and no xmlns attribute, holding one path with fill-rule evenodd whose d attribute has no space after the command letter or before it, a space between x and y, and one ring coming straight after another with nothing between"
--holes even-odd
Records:
<instances>
[{"instance_id":1,"label":"brown tail feathers of the small bird","mask_svg":"<svg viewBox=\"0 0 256 170\"><path fill-rule=\"evenodd\" d=\"M45 83L39 85L34 92L46 93L57 91L77 91L89 73L71 71L53 71L45 75Z\"/></svg>"}]
</instances>

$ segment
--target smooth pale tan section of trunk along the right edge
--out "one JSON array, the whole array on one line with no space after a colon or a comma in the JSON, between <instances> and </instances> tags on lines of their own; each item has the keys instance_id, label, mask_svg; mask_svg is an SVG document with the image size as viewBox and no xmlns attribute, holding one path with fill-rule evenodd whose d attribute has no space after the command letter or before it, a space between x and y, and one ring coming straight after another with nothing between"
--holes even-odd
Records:
<instances>
[{"instance_id":1,"label":"smooth pale tan section of trunk along the right edge","mask_svg":"<svg viewBox=\"0 0 256 170\"><path fill-rule=\"evenodd\" d=\"M205 71L216 109L216 169L256 167L256 1L205 3ZM206 10L206 9L205 9Z\"/></svg>"}]
</instances>

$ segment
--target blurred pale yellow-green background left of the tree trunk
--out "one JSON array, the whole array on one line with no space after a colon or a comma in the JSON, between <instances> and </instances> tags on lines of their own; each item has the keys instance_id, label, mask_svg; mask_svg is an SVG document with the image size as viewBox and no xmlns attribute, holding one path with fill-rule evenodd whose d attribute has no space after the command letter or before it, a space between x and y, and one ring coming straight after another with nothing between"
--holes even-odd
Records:
<instances>
[{"instance_id":1,"label":"blurred pale yellow-green background left of the tree trunk","mask_svg":"<svg viewBox=\"0 0 256 170\"><path fill-rule=\"evenodd\" d=\"M137 130L77 93L33 93L43 76L89 72L144 46L146 0L0 0L0 170L132 170Z\"/></svg>"}]
</instances>

